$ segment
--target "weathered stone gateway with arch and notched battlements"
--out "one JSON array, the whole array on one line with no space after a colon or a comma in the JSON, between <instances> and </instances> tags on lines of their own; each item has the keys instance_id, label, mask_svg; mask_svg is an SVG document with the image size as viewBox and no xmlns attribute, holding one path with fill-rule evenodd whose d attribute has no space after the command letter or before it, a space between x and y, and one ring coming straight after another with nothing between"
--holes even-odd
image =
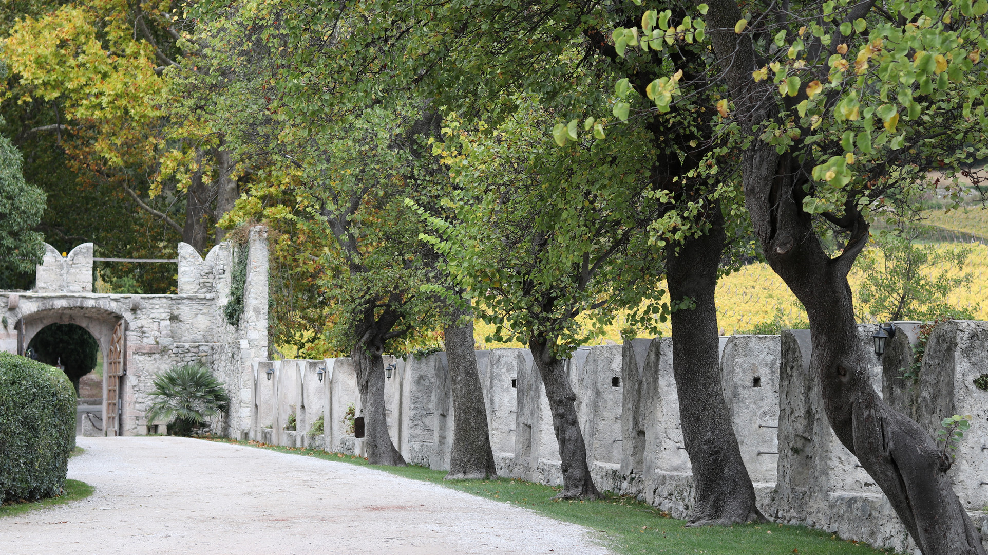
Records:
<instances>
[{"instance_id":1,"label":"weathered stone gateway with arch and notched battlements","mask_svg":"<svg viewBox=\"0 0 988 555\"><path fill-rule=\"evenodd\" d=\"M229 417L215 431L245 436L254 372L268 358L267 231L251 229L238 250L238 260L246 257L244 272L233 271L233 248L224 241L204 260L179 243L178 295L117 295L93 293L93 243L64 257L46 245L35 289L0 291L0 350L24 354L49 324L77 324L92 333L104 360L99 433L105 435L143 435L165 423L144 417L154 376L176 364L203 362L232 400ZM243 296L236 326L223 315L231 291Z\"/></svg>"}]
</instances>

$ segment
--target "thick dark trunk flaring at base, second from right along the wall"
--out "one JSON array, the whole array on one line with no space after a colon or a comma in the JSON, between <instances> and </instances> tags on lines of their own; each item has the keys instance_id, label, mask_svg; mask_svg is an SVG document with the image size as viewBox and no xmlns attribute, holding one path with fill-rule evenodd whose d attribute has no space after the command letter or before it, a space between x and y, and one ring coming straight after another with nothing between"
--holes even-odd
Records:
<instances>
[{"instance_id":1,"label":"thick dark trunk flaring at base, second from right along the wall","mask_svg":"<svg viewBox=\"0 0 988 555\"><path fill-rule=\"evenodd\" d=\"M741 459L737 436L724 402L714 289L724 248L723 217L712 207L713 228L666 248L669 297L692 299L696 308L672 314L673 374L679 394L683 439L696 500L688 525L762 520L755 488Z\"/></svg>"}]
</instances>

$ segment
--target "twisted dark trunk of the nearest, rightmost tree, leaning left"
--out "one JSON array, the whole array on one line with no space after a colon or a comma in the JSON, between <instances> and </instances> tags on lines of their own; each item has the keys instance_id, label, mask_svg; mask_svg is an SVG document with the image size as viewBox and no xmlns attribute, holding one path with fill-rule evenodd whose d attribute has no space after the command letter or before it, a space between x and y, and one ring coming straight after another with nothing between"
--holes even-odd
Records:
<instances>
[{"instance_id":1,"label":"twisted dark trunk of the nearest, rightmost tree, leaning left","mask_svg":"<svg viewBox=\"0 0 988 555\"><path fill-rule=\"evenodd\" d=\"M733 33L741 12L733 0L708 0L714 53L721 58L743 133L752 137L743 154L745 206L766 258L809 316L813 354L810 377L819 380L824 410L841 443L888 497L925 555L985 555L980 534L957 500L949 459L916 422L886 405L870 385L858 337L848 273L868 238L868 225L853 204L844 226L844 251L831 258L810 215L802 210L799 168L789 152L758 139L754 126L773 120L779 105L768 87L751 78L754 48ZM849 17L856 17L854 15ZM861 16L864 17L864 16Z\"/></svg>"}]
</instances>

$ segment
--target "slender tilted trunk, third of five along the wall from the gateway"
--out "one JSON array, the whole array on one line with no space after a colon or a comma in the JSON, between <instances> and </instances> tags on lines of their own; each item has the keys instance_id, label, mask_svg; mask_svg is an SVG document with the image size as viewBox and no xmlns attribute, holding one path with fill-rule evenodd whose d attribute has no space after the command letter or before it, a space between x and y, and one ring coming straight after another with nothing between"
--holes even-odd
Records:
<instances>
[{"instance_id":1,"label":"slender tilted trunk, third of five along the wall from the gateway","mask_svg":"<svg viewBox=\"0 0 988 555\"><path fill-rule=\"evenodd\" d=\"M587 466L587 444L576 416L576 394L566 377L565 361L552 354L550 340L533 337L529 348L545 386L545 397L552 413L552 428L559 443L562 491L556 499L601 499Z\"/></svg>"}]
</instances>

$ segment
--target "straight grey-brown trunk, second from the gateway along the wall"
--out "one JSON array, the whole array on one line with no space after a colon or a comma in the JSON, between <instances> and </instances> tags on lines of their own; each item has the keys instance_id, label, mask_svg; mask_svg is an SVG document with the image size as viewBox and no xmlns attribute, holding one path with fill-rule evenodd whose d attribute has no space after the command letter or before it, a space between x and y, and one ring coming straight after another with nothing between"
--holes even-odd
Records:
<instances>
[{"instance_id":1,"label":"straight grey-brown trunk, second from the gateway along the wall","mask_svg":"<svg viewBox=\"0 0 988 555\"><path fill-rule=\"evenodd\" d=\"M446 327L445 333L446 356L453 380L453 452L447 480L497 478L487 429L487 408L473 348L472 316L470 310L454 308L453 324Z\"/></svg>"}]
</instances>

